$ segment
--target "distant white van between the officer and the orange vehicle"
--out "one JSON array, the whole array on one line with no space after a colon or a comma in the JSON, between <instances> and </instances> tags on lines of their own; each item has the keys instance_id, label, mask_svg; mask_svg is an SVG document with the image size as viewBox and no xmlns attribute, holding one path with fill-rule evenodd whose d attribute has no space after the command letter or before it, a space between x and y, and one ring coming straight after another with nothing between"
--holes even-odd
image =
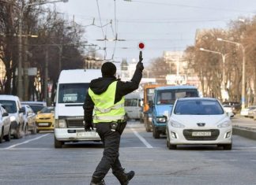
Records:
<instances>
[{"instance_id":1,"label":"distant white van between the officer and the orange vehicle","mask_svg":"<svg viewBox=\"0 0 256 185\"><path fill-rule=\"evenodd\" d=\"M126 119L142 120L143 94L134 92L125 96Z\"/></svg>"}]
</instances>

